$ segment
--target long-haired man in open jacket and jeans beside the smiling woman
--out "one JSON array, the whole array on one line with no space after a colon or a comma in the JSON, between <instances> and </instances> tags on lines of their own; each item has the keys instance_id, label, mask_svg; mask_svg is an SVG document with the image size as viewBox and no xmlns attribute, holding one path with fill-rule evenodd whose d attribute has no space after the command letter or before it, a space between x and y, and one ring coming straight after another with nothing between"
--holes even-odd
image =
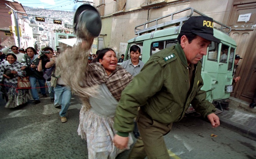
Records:
<instances>
[{"instance_id":1,"label":"long-haired man in open jacket and jeans beside the smiling woman","mask_svg":"<svg viewBox=\"0 0 256 159\"><path fill-rule=\"evenodd\" d=\"M45 80L43 77L43 73L37 70L37 66L40 63L39 59L38 59L37 51L32 47L28 47L26 49L26 53L27 54L24 55L24 58L22 58L21 70L24 69L27 73L27 76L29 76L32 96L34 99L34 101L32 103L38 104L38 103L40 103L40 101L39 101L39 96L38 96L37 88L36 88L37 81L39 83L40 90L41 90L43 97L47 97L46 93L45 93L45 88L44 88Z\"/></svg>"}]
</instances>

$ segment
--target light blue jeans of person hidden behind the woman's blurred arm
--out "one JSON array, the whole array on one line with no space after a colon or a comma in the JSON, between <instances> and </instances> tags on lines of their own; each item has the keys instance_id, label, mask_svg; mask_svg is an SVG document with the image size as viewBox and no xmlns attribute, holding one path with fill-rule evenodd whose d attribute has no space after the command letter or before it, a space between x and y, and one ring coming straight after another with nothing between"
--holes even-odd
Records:
<instances>
[{"instance_id":1,"label":"light blue jeans of person hidden behind the woman's blurred arm","mask_svg":"<svg viewBox=\"0 0 256 159\"><path fill-rule=\"evenodd\" d=\"M56 85L54 88L54 106L61 106L60 117L65 117L71 100L71 89L68 86Z\"/></svg>"}]
</instances>

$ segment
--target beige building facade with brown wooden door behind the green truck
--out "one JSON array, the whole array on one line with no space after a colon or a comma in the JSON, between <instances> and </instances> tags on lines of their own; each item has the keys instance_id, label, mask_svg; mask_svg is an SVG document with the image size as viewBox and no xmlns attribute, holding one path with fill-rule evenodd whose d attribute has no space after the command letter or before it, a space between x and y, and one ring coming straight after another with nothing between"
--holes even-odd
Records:
<instances>
[{"instance_id":1,"label":"beige building facade with brown wooden door behind the green truck","mask_svg":"<svg viewBox=\"0 0 256 159\"><path fill-rule=\"evenodd\" d=\"M93 4L102 18L95 46L112 48L119 56L125 53L127 41L136 37L135 26L187 7L232 27L229 35L238 45L236 53L243 57L237 72L241 80L234 85L232 95L251 102L256 90L255 0L93 0Z\"/></svg>"}]
</instances>

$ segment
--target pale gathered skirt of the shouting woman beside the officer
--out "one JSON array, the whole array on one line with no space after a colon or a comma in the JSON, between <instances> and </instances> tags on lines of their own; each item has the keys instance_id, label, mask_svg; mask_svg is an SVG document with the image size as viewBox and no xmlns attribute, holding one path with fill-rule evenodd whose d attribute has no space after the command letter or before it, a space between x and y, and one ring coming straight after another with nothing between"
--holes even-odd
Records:
<instances>
[{"instance_id":1,"label":"pale gathered skirt of the shouting woman beside the officer","mask_svg":"<svg viewBox=\"0 0 256 159\"><path fill-rule=\"evenodd\" d=\"M101 117L90 110L86 110L86 106L82 106L77 132L82 139L87 141L88 159L115 159L118 154L124 151L116 148L112 142L116 133L113 126L114 118ZM132 144L132 135L129 134L128 149Z\"/></svg>"}]
</instances>

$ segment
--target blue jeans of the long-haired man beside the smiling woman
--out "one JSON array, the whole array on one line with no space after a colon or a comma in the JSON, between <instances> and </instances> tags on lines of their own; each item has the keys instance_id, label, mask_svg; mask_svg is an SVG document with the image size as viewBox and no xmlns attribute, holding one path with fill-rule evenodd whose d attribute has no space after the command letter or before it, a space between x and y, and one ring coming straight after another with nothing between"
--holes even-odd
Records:
<instances>
[{"instance_id":1,"label":"blue jeans of the long-haired man beside the smiling woman","mask_svg":"<svg viewBox=\"0 0 256 159\"><path fill-rule=\"evenodd\" d=\"M34 100L39 100L39 96L38 96L37 88L36 88L37 87L37 81L39 83L41 93L45 94L45 88L44 88L45 80L37 79L36 77L30 77L29 76L29 81L30 81L30 84L31 84L31 92L32 92L33 99Z\"/></svg>"}]
</instances>

